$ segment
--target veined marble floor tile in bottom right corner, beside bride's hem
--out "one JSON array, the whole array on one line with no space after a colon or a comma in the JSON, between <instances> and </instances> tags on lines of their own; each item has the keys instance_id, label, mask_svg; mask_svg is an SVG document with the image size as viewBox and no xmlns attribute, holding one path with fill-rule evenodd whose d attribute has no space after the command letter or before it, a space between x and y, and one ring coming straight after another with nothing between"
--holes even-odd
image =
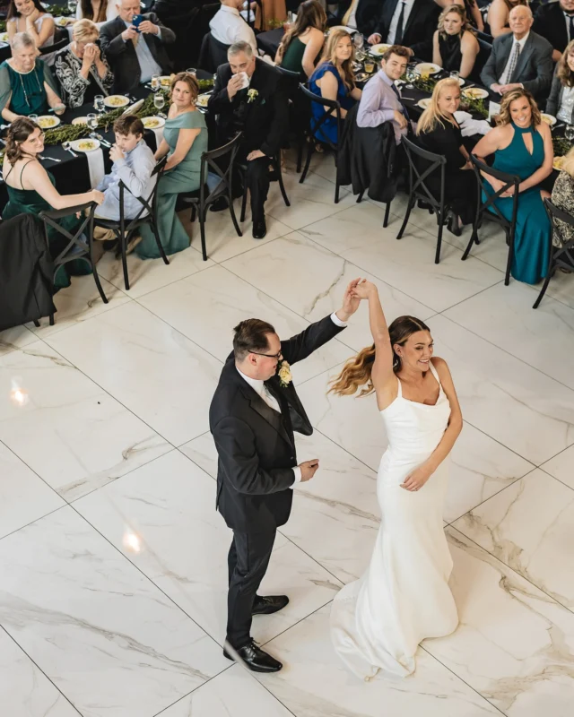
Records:
<instances>
[{"instance_id":1,"label":"veined marble floor tile in bottom right corner, beside bride's hem","mask_svg":"<svg viewBox=\"0 0 574 717\"><path fill-rule=\"evenodd\" d=\"M447 534L460 624L422 646L508 717L569 717L574 615L461 532Z\"/></svg>"}]
</instances>

